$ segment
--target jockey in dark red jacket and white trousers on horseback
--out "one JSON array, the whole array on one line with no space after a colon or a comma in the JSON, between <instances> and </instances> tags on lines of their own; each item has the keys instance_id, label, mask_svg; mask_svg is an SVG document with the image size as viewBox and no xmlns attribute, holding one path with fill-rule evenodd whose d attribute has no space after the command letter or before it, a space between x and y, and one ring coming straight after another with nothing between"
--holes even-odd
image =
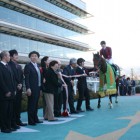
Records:
<instances>
[{"instance_id":1,"label":"jockey in dark red jacket and white trousers on horseback","mask_svg":"<svg viewBox=\"0 0 140 140\"><path fill-rule=\"evenodd\" d=\"M103 56L106 62L108 62L113 67L113 69L115 70L115 76L118 75L117 67L113 64L111 47L106 46L105 41L101 41L100 45L102 47L102 49L100 50L100 55Z\"/></svg>"}]
</instances>

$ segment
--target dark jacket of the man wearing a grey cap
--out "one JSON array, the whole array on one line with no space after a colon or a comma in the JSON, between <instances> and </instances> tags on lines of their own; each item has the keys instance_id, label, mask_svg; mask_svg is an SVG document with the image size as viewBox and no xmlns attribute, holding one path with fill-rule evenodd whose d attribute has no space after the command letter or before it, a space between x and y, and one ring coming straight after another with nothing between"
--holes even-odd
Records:
<instances>
[{"instance_id":1,"label":"dark jacket of the man wearing a grey cap","mask_svg":"<svg viewBox=\"0 0 140 140\"><path fill-rule=\"evenodd\" d=\"M63 72L62 72L64 75L67 75L67 76L72 76L72 75L74 75L74 74L76 74L75 73L75 70L74 69L72 69L71 68L71 66L70 65L67 65L64 69L63 69ZM71 85L71 80L73 80L74 78L66 78L66 77L63 77L64 78L64 81L66 82L66 84L68 85L68 86L72 86Z\"/></svg>"}]
</instances>

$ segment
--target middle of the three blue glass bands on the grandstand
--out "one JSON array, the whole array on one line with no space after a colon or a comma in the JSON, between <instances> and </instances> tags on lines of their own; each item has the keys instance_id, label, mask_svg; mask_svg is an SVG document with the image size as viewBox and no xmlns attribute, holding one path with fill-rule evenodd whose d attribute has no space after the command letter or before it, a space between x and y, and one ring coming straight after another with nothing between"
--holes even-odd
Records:
<instances>
[{"instance_id":1,"label":"middle of the three blue glass bands on the grandstand","mask_svg":"<svg viewBox=\"0 0 140 140\"><path fill-rule=\"evenodd\" d=\"M0 19L14 23L20 26L24 26L30 29L38 30L41 32L53 34L56 36L65 37L68 39L73 39L75 41L84 42L82 36L83 34L62 28L60 26L39 20L37 18L4 8L0 7Z\"/></svg>"}]
</instances>

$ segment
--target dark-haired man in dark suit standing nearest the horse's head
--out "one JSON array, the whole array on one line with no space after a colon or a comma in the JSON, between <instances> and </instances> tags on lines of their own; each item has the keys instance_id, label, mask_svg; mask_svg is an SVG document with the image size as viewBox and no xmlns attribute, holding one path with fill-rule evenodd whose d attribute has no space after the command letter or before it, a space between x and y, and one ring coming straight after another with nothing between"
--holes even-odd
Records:
<instances>
[{"instance_id":1,"label":"dark-haired man in dark suit standing nearest the horse's head","mask_svg":"<svg viewBox=\"0 0 140 140\"><path fill-rule=\"evenodd\" d=\"M90 95L89 95L89 91L88 91L88 87L87 87L87 80L86 80L86 76L88 74L87 72L89 72L89 71L87 71L86 68L84 68L84 62L85 62L85 60L83 58L77 59L78 67L76 68L76 74L77 75L83 74L83 76L78 77L78 83L77 83L78 93L79 93L79 99L77 102L77 111L78 112L84 111L81 109L83 97L85 97L86 110L87 111L93 110L90 107Z\"/></svg>"}]
</instances>

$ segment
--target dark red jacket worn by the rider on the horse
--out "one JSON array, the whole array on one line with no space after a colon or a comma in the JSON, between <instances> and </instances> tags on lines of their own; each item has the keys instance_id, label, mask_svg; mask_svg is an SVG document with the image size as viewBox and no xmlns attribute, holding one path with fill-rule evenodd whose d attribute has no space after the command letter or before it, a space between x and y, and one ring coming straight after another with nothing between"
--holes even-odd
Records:
<instances>
[{"instance_id":1,"label":"dark red jacket worn by the rider on the horse","mask_svg":"<svg viewBox=\"0 0 140 140\"><path fill-rule=\"evenodd\" d=\"M105 59L112 58L112 49L110 47L106 47L105 49L100 50L100 55L103 56Z\"/></svg>"}]
</instances>

